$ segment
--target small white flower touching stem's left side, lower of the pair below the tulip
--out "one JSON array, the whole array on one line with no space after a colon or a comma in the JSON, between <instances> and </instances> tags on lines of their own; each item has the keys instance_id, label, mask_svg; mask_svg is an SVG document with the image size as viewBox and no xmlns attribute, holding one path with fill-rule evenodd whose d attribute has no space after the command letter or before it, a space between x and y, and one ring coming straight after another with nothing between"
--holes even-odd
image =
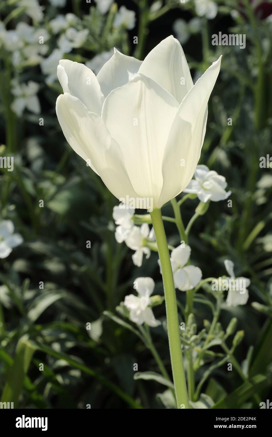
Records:
<instances>
[{"instance_id":1,"label":"small white flower touching stem's left side, lower of the pair below the tulip","mask_svg":"<svg viewBox=\"0 0 272 437\"><path fill-rule=\"evenodd\" d=\"M141 227L134 226L124 241L130 249L135 250L132 255L134 265L141 267L144 253L147 259L150 257L151 251L149 247L146 247L146 243L147 241L155 241L154 230L151 229L149 232L147 223L144 223Z\"/></svg>"}]
</instances>

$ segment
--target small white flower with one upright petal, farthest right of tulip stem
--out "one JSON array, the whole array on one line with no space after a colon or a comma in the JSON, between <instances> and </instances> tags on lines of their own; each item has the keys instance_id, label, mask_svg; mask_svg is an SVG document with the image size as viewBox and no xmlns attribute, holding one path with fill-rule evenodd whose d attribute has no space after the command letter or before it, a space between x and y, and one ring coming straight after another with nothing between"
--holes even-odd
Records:
<instances>
[{"instance_id":1,"label":"small white flower with one upright petal, farthest right of tulip stem","mask_svg":"<svg viewBox=\"0 0 272 437\"><path fill-rule=\"evenodd\" d=\"M245 305L248 302L248 289L250 285L250 279L247 277L235 277L234 275L234 263L230 260L224 260L224 264L227 273L230 277L227 277L228 281L228 293L227 293L227 306Z\"/></svg>"}]
</instances>

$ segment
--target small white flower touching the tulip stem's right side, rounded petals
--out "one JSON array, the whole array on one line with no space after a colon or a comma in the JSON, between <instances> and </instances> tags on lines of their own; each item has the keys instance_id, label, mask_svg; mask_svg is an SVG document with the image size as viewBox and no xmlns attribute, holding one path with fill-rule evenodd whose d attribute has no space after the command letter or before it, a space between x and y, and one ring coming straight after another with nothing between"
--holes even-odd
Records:
<instances>
[{"instance_id":1,"label":"small white flower touching the tulip stem's right side, rounded petals","mask_svg":"<svg viewBox=\"0 0 272 437\"><path fill-rule=\"evenodd\" d=\"M186 266L191 254L191 248L187 244L181 244L172 250L171 265L174 277L175 288L180 291L192 290L202 278L202 271L199 267ZM158 264L161 268L160 260Z\"/></svg>"}]
</instances>

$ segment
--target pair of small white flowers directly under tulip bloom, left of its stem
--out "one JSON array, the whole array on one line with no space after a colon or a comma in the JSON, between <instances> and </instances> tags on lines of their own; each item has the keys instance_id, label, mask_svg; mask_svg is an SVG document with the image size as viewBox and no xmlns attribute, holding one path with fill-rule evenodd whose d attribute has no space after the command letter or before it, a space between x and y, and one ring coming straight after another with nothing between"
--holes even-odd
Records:
<instances>
[{"instance_id":1,"label":"pair of small white flowers directly under tulip bloom, left of its stem","mask_svg":"<svg viewBox=\"0 0 272 437\"><path fill-rule=\"evenodd\" d=\"M146 258L150 257L151 250L146 244L155 241L155 234L153 228L150 230L147 223L141 227L134 225L134 212L133 208L124 203L114 206L113 218L117 225L115 238L118 243L124 241L130 249L135 250L132 255L133 263L141 267L143 255L145 254Z\"/></svg>"}]
</instances>

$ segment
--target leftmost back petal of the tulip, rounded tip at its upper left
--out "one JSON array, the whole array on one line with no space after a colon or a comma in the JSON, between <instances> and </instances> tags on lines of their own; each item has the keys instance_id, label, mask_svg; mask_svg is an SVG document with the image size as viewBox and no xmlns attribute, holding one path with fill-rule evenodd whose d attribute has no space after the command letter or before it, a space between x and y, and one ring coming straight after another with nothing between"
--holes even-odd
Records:
<instances>
[{"instance_id":1,"label":"leftmost back petal of the tulip, rounded tip at its upper left","mask_svg":"<svg viewBox=\"0 0 272 437\"><path fill-rule=\"evenodd\" d=\"M96 75L83 64L61 59L58 78L64 93L78 97L90 112L101 115L104 96Z\"/></svg>"}]
</instances>

